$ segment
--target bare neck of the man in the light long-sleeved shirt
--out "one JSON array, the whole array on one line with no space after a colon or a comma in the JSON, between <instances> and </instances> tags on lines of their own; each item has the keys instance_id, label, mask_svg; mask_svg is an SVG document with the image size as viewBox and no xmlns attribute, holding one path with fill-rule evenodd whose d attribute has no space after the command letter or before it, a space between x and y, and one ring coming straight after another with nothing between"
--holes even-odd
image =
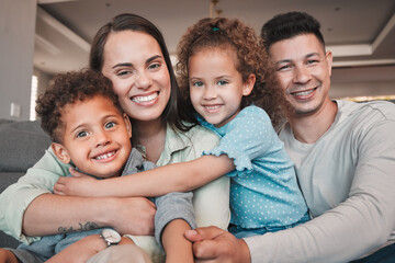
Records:
<instances>
[{"instance_id":1,"label":"bare neck of the man in the light long-sleeved shirt","mask_svg":"<svg viewBox=\"0 0 395 263\"><path fill-rule=\"evenodd\" d=\"M304 144L314 144L332 125L337 114L337 104L328 100L317 112L293 114L287 117L295 138Z\"/></svg>"}]
</instances>

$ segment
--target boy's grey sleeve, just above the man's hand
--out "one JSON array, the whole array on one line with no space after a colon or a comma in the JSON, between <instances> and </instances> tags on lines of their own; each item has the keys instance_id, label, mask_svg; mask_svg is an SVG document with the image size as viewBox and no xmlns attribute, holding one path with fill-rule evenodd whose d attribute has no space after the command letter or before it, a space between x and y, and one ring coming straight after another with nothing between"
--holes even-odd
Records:
<instances>
[{"instance_id":1,"label":"boy's grey sleeve, just above the man's hand","mask_svg":"<svg viewBox=\"0 0 395 263\"><path fill-rule=\"evenodd\" d=\"M161 244L161 233L166 226L174 219L183 219L191 226L191 229L196 228L192 196L192 192L174 192L155 198L157 206L157 213L155 214L155 238L159 244Z\"/></svg>"}]
</instances>

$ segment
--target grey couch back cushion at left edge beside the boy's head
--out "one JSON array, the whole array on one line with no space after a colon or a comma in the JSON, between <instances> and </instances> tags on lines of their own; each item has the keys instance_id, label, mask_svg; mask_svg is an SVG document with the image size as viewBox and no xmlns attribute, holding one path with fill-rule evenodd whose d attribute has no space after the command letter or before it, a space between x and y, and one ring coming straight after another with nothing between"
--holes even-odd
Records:
<instances>
[{"instance_id":1,"label":"grey couch back cushion at left edge beside the boy's head","mask_svg":"<svg viewBox=\"0 0 395 263\"><path fill-rule=\"evenodd\" d=\"M0 172L25 172L49 145L40 121L0 121Z\"/></svg>"}]
</instances>

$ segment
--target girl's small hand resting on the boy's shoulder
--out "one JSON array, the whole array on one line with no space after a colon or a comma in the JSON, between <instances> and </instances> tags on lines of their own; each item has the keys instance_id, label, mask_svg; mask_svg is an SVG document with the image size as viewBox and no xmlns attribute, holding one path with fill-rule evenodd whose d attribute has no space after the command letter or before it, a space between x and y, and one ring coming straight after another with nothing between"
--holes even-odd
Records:
<instances>
[{"instance_id":1,"label":"girl's small hand resting on the boy's shoulder","mask_svg":"<svg viewBox=\"0 0 395 263\"><path fill-rule=\"evenodd\" d=\"M100 180L69 169L71 178L59 178L54 185L54 193L58 195L98 196Z\"/></svg>"}]
</instances>

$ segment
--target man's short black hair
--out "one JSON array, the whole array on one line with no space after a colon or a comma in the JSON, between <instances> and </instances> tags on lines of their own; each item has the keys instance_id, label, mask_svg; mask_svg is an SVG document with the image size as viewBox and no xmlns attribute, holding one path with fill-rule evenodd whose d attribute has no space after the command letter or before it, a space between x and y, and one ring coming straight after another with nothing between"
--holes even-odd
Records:
<instances>
[{"instance_id":1,"label":"man's short black hair","mask_svg":"<svg viewBox=\"0 0 395 263\"><path fill-rule=\"evenodd\" d=\"M289 12L275 15L269 20L261 30L264 48L279 41L287 39L301 34L314 34L325 48L324 36L319 22L305 12Z\"/></svg>"}]
</instances>

